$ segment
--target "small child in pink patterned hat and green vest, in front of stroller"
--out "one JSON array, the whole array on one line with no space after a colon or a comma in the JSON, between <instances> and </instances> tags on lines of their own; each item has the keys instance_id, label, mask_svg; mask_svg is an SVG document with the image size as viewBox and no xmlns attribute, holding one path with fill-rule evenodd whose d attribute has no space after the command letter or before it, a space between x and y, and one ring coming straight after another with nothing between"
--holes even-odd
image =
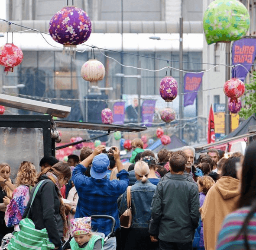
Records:
<instances>
[{"instance_id":1,"label":"small child in pink patterned hat and green vest, in front of stroller","mask_svg":"<svg viewBox=\"0 0 256 250\"><path fill-rule=\"evenodd\" d=\"M70 220L71 250L103 250L104 239L91 231L91 217Z\"/></svg>"}]
</instances>

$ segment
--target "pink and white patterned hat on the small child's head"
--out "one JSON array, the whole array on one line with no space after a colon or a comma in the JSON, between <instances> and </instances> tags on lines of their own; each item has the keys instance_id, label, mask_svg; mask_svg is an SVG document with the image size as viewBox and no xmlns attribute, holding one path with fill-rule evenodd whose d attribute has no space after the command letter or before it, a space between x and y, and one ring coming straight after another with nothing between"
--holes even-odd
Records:
<instances>
[{"instance_id":1,"label":"pink and white patterned hat on the small child's head","mask_svg":"<svg viewBox=\"0 0 256 250\"><path fill-rule=\"evenodd\" d=\"M91 233L91 217L71 219L70 228L73 236Z\"/></svg>"}]
</instances>

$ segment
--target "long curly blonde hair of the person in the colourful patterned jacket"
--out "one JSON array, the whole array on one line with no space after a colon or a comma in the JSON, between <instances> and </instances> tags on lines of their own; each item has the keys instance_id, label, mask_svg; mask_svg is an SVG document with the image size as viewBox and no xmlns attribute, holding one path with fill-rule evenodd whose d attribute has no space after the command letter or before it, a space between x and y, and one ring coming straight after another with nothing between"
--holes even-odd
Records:
<instances>
[{"instance_id":1,"label":"long curly blonde hair of the person in the colourful patterned jacket","mask_svg":"<svg viewBox=\"0 0 256 250\"><path fill-rule=\"evenodd\" d=\"M18 187L19 185L29 185L34 187L36 184L36 168L30 161L23 161L19 165L19 170L17 173L15 185Z\"/></svg>"}]
</instances>

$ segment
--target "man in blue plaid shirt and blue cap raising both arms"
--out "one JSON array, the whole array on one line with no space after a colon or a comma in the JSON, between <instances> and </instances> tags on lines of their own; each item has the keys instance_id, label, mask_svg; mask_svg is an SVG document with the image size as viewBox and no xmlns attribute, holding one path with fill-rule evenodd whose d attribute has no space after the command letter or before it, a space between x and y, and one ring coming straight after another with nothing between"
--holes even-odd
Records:
<instances>
[{"instance_id":1,"label":"man in blue plaid shirt and blue cap raising both arms","mask_svg":"<svg viewBox=\"0 0 256 250\"><path fill-rule=\"evenodd\" d=\"M123 194L129 185L128 172L123 168L120 160L120 152L117 147L113 149L113 155L117 164L119 180L109 180L107 170L109 168L109 158L102 154L105 146L97 146L94 152L86 159L76 165L72 180L78 192L78 205L75 218L88 217L90 215L111 215L116 219L116 227L120 227L117 198ZM86 168L91 165L91 177L84 175ZM92 230L105 235L110 233L111 221L99 218L92 221ZM104 250L116 249L116 238L110 238L104 245Z\"/></svg>"}]
</instances>

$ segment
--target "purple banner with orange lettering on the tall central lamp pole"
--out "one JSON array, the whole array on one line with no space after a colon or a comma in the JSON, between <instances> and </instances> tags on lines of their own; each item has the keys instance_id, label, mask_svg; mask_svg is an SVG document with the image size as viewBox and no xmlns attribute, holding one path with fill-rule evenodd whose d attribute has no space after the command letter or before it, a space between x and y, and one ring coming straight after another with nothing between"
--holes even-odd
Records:
<instances>
[{"instance_id":1,"label":"purple banner with orange lettering on the tall central lamp pole","mask_svg":"<svg viewBox=\"0 0 256 250\"><path fill-rule=\"evenodd\" d=\"M202 73L186 73L184 76L184 107L193 105L201 85Z\"/></svg>"}]
</instances>

